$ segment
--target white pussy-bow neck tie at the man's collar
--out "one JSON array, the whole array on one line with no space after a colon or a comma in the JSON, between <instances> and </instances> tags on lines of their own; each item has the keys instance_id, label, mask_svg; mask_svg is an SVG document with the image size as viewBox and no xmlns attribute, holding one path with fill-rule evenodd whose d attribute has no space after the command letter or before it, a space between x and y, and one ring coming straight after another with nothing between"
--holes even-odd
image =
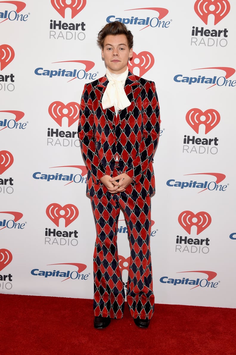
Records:
<instances>
[{"instance_id":1,"label":"white pussy-bow neck tie at the man's collar","mask_svg":"<svg viewBox=\"0 0 236 355\"><path fill-rule=\"evenodd\" d=\"M107 84L106 90L102 97L103 110L114 106L117 113L118 110L123 110L131 104L124 91L124 85L128 77L128 71L129 70L127 67L124 73L113 74L107 69L106 76L109 83Z\"/></svg>"}]
</instances>

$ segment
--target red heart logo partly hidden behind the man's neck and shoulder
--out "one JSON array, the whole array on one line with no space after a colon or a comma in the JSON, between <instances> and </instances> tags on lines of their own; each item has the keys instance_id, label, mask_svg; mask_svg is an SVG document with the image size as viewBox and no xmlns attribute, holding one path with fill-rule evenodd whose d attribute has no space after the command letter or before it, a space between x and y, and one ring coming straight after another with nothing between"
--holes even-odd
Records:
<instances>
[{"instance_id":1,"label":"red heart logo partly hidden behind the man's neck and shoulder","mask_svg":"<svg viewBox=\"0 0 236 355\"><path fill-rule=\"evenodd\" d=\"M143 51L139 54L133 52L133 57L128 61L128 67L132 72L134 72L134 68L138 68L139 76L143 76L153 67L154 62L154 56L150 52Z\"/></svg>"}]
</instances>

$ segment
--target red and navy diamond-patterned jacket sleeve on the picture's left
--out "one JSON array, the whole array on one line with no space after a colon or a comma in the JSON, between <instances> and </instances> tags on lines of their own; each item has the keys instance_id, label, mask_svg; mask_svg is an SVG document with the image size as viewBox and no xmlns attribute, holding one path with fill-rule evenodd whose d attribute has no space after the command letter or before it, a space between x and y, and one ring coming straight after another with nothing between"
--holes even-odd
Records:
<instances>
[{"instance_id":1,"label":"red and navy diamond-patterned jacket sleeve on the picture's left","mask_svg":"<svg viewBox=\"0 0 236 355\"><path fill-rule=\"evenodd\" d=\"M85 163L88 166L95 184L98 184L99 179L106 175L106 172L104 166L100 162L96 148L96 140L94 135L94 111L92 109L92 100L88 90L89 85L90 84L85 84L82 93L78 136Z\"/></svg>"}]
</instances>

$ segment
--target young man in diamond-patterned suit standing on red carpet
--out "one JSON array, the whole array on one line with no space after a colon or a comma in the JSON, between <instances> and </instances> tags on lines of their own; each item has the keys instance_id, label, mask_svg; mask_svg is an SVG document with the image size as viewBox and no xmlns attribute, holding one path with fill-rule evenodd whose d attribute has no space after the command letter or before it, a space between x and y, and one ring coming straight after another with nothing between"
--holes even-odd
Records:
<instances>
[{"instance_id":1,"label":"young man in diamond-patterned suit standing on red carpet","mask_svg":"<svg viewBox=\"0 0 236 355\"><path fill-rule=\"evenodd\" d=\"M87 193L96 223L94 327L122 318L125 293L117 252L122 208L128 228L130 267L127 302L134 322L147 328L154 311L150 253L152 158L159 133L155 85L128 71L133 35L108 23L98 35L106 76L86 84L78 134L88 166Z\"/></svg>"}]
</instances>

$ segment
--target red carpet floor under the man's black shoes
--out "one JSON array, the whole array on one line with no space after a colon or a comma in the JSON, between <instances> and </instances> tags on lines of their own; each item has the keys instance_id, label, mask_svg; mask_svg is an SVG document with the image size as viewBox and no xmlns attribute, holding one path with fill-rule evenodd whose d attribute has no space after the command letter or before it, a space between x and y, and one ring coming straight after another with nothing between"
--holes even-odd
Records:
<instances>
[{"instance_id":1,"label":"red carpet floor under the man's black shoes","mask_svg":"<svg viewBox=\"0 0 236 355\"><path fill-rule=\"evenodd\" d=\"M155 305L148 329L93 328L92 300L0 294L1 355L235 355L236 309Z\"/></svg>"}]
</instances>

